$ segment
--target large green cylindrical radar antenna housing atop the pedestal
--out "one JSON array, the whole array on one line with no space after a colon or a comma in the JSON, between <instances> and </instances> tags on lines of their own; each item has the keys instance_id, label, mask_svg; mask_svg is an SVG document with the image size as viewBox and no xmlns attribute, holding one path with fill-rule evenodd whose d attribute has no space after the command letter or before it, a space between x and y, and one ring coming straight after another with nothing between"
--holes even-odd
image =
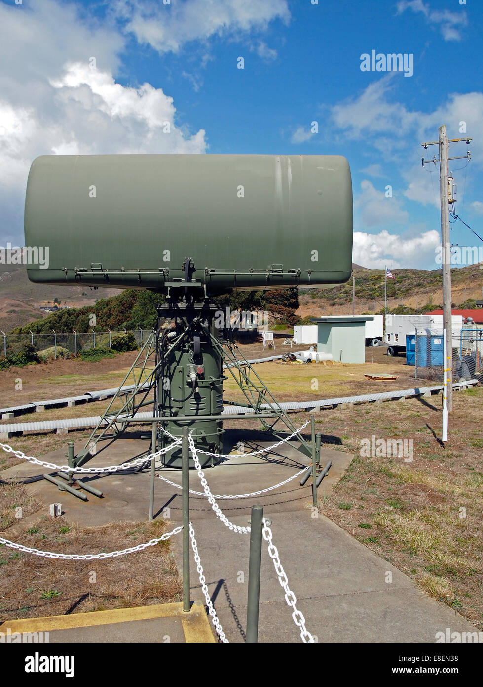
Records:
<instances>
[{"instance_id":1,"label":"large green cylindrical radar antenna housing atop the pedestal","mask_svg":"<svg viewBox=\"0 0 483 687\"><path fill-rule=\"evenodd\" d=\"M351 172L338 155L46 155L32 163L32 282L205 293L351 276Z\"/></svg>"}]
</instances>

